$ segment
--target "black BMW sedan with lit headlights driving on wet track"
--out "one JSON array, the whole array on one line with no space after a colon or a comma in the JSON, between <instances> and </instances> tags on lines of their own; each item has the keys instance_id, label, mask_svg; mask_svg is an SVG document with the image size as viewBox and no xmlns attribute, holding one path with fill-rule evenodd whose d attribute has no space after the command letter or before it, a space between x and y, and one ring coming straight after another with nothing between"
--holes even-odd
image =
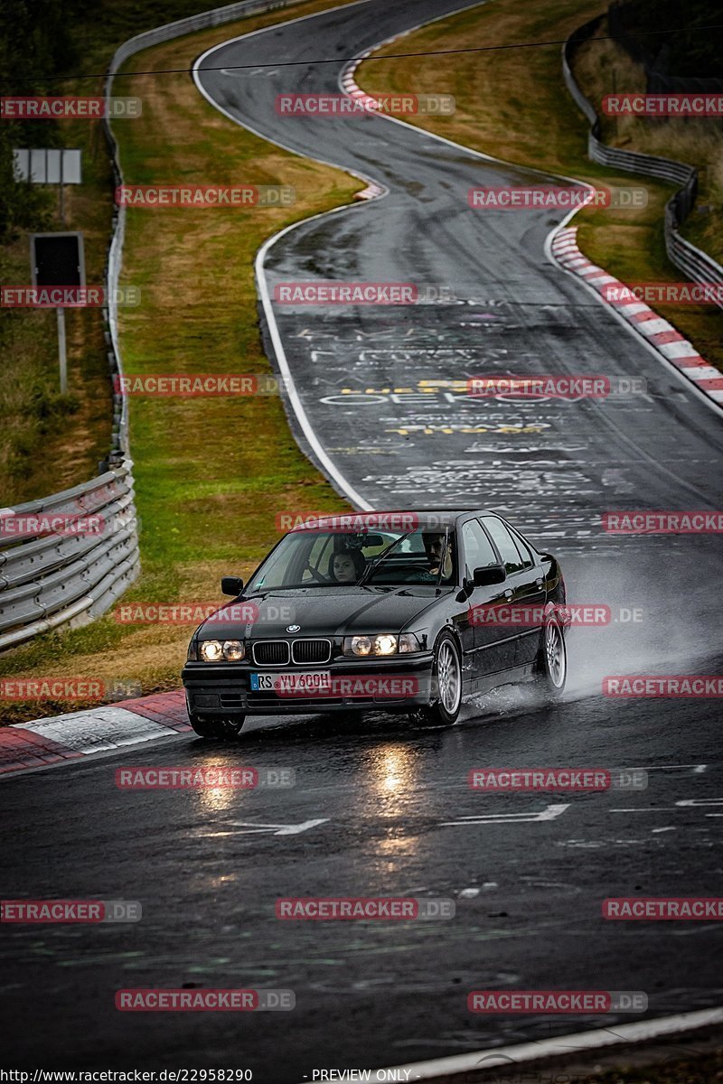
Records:
<instances>
[{"instance_id":1,"label":"black BMW sedan with lit headlights driving on wet track","mask_svg":"<svg viewBox=\"0 0 723 1084\"><path fill-rule=\"evenodd\" d=\"M247 715L406 712L448 726L465 696L565 687L565 582L493 512L372 512L300 524L196 629L183 668L197 734Z\"/></svg>"}]
</instances>

